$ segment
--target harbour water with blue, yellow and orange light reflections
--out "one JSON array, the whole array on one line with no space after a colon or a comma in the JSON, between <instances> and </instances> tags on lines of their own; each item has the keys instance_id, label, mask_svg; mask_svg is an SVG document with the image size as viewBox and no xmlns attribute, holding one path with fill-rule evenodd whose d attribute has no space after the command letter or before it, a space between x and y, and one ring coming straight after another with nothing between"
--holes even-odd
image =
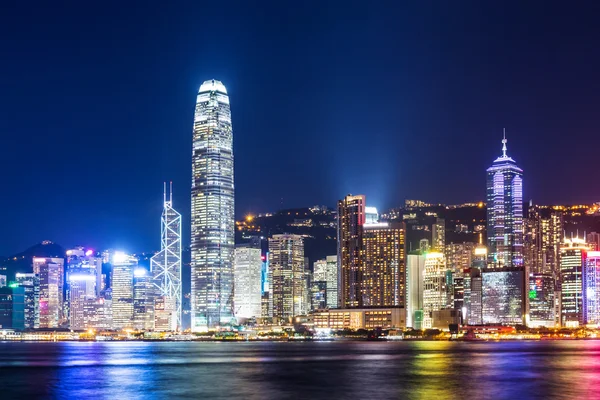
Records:
<instances>
[{"instance_id":1,"label":"harbour water with blue, yellow and orange light reflections","mask_svg":"<svg viewBox=\"0 0 600 400\"><path fill-rule=\"evenodd\" d=\"M0 343L0 397L593 398L600 341Z\"/></svg>"}]
</instances>

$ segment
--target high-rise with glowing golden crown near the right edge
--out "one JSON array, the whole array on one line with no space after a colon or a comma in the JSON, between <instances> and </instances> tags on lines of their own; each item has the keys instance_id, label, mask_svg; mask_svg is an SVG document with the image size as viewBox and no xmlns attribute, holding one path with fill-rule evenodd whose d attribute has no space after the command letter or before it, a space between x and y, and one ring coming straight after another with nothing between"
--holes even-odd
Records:
<instances>
[{"instance_id":1,"label":"high-rise with glowing golden crown near the right edge","mask_svg":"<svg viewBox=\"0 0 600 400\"><path fill-rule=\"evenodd\" d=\"M584 323L582 273L589 247L584 239L565 239L560 249L561 325Z\"/></svg>"}]
</instances>

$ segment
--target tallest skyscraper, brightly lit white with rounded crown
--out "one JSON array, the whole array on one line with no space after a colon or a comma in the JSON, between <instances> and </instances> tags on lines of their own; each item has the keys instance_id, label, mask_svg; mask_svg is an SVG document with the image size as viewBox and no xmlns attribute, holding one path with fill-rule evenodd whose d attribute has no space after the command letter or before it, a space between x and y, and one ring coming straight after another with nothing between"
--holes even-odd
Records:
<instances>
[{"instance_id":1,"label":"tallest skyscraper, brightly lit white with rounded crown","mask_svg":"<svg viewBox=\"0 0 600 400\"><path fill-rule=\"evenodd\" d=\"M192 148L192 331L233 318L233 131L223 83L198 91Z\"/></svg>"}]
</instances>

